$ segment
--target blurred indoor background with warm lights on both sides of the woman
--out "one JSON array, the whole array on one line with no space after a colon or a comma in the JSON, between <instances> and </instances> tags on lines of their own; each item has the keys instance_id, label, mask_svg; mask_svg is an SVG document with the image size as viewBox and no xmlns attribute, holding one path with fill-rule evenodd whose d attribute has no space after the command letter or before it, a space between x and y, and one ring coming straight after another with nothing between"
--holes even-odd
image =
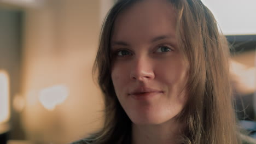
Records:
<instances>
[{"instance_id":1,"label":"blurred indoor background with warm lights on both sides of the woman","mask_svg":"<svg viewBox=\"0 0 256 144\"><path fill-rule=\"evenodd\" d=\"M102 95L91 70L114 2L0 0L1 144L69 143L101 128ZM236 112L254 137L256 1L203 3L234 48Z\"/></svg>"}]
</instances>

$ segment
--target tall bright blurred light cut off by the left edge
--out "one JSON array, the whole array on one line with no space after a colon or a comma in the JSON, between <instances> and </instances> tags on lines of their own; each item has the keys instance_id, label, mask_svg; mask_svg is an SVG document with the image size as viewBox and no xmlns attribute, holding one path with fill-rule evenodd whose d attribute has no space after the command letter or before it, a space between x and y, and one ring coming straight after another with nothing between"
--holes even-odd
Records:
<instances>
[{"instance_id":1,"label":"tall bright blurred light cut off by the left edge","mask_svg":"<svg viewBox=\"0 0 256 144\"><path fill-rule=\"evenodd\" d=\"M9 76L0 71L0 123L7 122L10 117L9 109Z\"/></svg>"}]
</instances>

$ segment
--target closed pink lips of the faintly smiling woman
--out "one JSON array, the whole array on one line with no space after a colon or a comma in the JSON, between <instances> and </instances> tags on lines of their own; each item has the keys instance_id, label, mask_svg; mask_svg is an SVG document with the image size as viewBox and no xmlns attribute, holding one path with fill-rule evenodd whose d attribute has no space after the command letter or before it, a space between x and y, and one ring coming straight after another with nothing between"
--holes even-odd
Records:
<instances>
[{"instance_id":1,"label":"closed pink lips of the faintly smiling woman","mask_svg":"<svg viewBox=\"0 0 256 144\"><path fill-rule=\"evenodd\" d=\"M153 98L156 95L164 93L160 89L149 88L149 87L138 87L131 91L129 95L136 100L145 100L149 98Z\"/></svg>"}]
</instances>

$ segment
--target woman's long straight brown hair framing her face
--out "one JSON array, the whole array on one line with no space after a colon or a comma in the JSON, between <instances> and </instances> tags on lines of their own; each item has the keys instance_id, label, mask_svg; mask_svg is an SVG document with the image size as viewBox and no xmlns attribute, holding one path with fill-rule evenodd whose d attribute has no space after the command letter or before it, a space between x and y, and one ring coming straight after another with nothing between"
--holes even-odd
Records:
<instances>
[{"instance_id":1,"label":"woman's long straight brown hair framing her face","mask_svg":"<svg viewBox=\"0 0 256 144\"><path fill-rule=\"evenodd\" d=\"M117 16L138 1L119 0L104 20L94 65L104 95L104 126L86 139L88 142L131 143L132 122L117 99L110 76L110 39ZM226 39L219 34L214 16L200 0L168 1L177 12L178 45L190 67L189 99L178 115L178 120L185 123L180 143L241 143L232 105Z\"/></svg>"}]
</instances>

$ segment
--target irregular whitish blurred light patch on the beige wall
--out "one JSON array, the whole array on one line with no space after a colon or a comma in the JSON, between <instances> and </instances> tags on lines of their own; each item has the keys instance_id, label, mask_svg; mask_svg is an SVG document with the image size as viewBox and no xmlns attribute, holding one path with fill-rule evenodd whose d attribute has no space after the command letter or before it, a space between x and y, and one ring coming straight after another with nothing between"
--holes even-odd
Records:
<instances>
[{"instance_id":1,"label":"irregular whitish blurred light patch on the beige wall","mask_svg":"<svg viewBox=\"0 0 256 144\"><path fill-rule=\"evenodd\" d=\"M39 101L47 110L54 110L68 97L68 88L63 85L44 88L39 92Z\"/></svg>"}]
</instances>

